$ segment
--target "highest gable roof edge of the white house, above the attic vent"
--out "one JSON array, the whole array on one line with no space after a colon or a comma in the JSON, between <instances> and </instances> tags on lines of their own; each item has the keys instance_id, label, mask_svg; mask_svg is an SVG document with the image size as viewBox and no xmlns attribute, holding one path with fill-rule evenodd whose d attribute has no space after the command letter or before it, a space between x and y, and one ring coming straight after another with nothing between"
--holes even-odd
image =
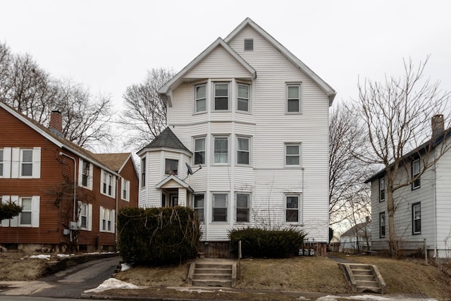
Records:
<instances>
[{"instance_id":1,"label":"highest gable roof edge of the white house, above the attic vent","mask_svg":"<svg viewBox=\"0 0 451 301\"><path fill-rule=\"evenodd\" d=\"M240 25L238 25L235 30L230 32L230 34L224 39L226 43L230 42L238 33L240 33L242 30L245 29L245 27L252 27L255 31L257 31L262 37L264 37L271 45L273 45L274 48L276 48L278 51L280 51L281 54L283 54L289 61L291 61L299 70L301 70L303 73L305 73L311 80L313 80L316 85L319 85L321 87L321 90L323 90L329 97L329 105L332 105L333 99L335 98L335 95L337 94L335 90L333 90L330 85L328 85L327 82L322 80L316 73L313 72L309 67L307 67L306 64L302 63L301 60L297 59L297 57L292 54L288 49L286 49L282 44L280 44L276 39L271 37L271 35L268 34L263 28L261 28L257 23L255 23L251 18L246 18Z\"/></svg>"}]
</instances>

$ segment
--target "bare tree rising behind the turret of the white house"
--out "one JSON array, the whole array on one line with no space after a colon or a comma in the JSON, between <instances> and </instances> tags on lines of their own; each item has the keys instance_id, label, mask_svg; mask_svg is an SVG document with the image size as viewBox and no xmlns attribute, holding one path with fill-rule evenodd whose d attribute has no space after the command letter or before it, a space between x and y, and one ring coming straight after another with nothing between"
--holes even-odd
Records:
<instances>
[{"instance_id":1,"label":"bare tree rising behind the turret of the white house","mask_svg":"<svg viewBox=\"0 0 451 301\"><path fill-rule=\"evenodd\" d=\"M143 147L166 127L166 104L157 91L174 74L170 69L152 68L143 82L127 87L121 123L130 130L128 145Z\"/></svg>"}]
</instances>

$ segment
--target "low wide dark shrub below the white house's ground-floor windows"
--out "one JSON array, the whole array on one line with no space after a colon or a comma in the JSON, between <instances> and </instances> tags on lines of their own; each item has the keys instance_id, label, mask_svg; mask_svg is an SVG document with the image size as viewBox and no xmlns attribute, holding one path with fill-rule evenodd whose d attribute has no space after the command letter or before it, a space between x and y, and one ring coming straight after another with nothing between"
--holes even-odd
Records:
<instances>
[{"instance_id":1,"label":"low wide dark shrub below the white house's ground-floor windows","mask_svg":"<svg viewBox=\"0 0 451 301\"><path fill-rule=\"evenodd\" d=\"M242 257L285 258L298 254L305 234L295 229L264 230L245 228L229 231L231 251L238 254L241 240Z\"/></svg>"}]
</instances>

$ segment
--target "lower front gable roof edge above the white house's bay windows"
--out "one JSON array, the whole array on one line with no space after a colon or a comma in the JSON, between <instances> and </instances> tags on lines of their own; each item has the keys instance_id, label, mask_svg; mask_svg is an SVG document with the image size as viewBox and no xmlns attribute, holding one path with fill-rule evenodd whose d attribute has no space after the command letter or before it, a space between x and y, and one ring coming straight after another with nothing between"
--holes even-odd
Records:
<instances>
[{"instance_id":1,"label":"lower front gable roof edge above the white house's bay windows","mask_svg":"<svg viewBox=\"0 0 451 301\"><path fill-rule=\"evenodd\" d=\"M172 99L171 99L172 91L175 90L183 82L183 77L190 70L192 70L192 68L197 66L197 64L200 61L202 61L206 56L211 54L211 52L214 51L214 49L216 49L216 47L223 47L224 49L226 49L226 51L228 51L228 53L231 56L233 56L233 58L235 58L243 67L245 67L249 71L249 73L251 75L250 79L257 78L256 70L254 68L252 68L252 66L250 66L249 63L247 63L244 59L242 59L242 57L239 54L237 54L237 52L235 50L233 50L232 47L230 47L226 42L224 42L224 40L221 39L221 37L218 37L218 39L216 39L216 41L213 42L213 44L211 44L204 51L202 51L201 54L199 54L194 60L192 60L189 64L187 64L187 66L185 66L185 68L180 70L179 73L177 73L173 78L171 78L171 80L166 82L166 84L163 85L163 87L161 87L158 90L159 94L161 94L163 99L165 99L168 106L172 106Z\"/></svg>"}]
</instances>

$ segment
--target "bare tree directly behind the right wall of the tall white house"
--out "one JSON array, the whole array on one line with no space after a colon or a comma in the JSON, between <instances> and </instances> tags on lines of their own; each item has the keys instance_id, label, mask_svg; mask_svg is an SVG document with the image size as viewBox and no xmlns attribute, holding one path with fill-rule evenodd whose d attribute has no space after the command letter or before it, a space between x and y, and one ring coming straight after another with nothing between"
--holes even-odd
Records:
<instances>
[{"instance_id":1,"label":"bare tree directly behind the right wall of the tall white house","mask_svg":"<svg viewBox=\"0 0 451 301\"><path fill-rule=\"evenodd\" d=\"M365 131L359 118L343 104L336 104L329 120L329 216L330 225L354 216L370 201L364 180L375 171L354 156L361 148Z\"/></svg>"}]
</instances>

